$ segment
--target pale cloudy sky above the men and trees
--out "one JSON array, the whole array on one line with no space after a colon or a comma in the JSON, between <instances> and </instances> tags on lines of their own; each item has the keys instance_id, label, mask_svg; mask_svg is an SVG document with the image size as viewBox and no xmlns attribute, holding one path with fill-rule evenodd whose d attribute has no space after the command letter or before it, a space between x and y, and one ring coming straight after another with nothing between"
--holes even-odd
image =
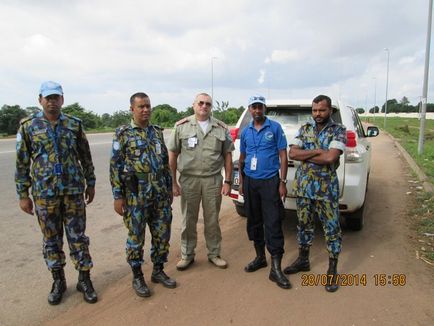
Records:
<instances>
[{"instance_id":1,"label":"pale cloudy sky above the men and trees","mask_svg":"<svg viewBox=\"0 0 434 326\"><path fill-rule=\"evenodd\" d=\"M178 110L202 91L235 107L246 106L253 93L270 99L325 93L372 107L375 98L377 105L385 101L385 48L388 97L416 104L428 4L1 0L0 105L37 105L40 83L55 80L66 104L98 114L128 109L136 91Z\"/></svg>"}]
</instances>

